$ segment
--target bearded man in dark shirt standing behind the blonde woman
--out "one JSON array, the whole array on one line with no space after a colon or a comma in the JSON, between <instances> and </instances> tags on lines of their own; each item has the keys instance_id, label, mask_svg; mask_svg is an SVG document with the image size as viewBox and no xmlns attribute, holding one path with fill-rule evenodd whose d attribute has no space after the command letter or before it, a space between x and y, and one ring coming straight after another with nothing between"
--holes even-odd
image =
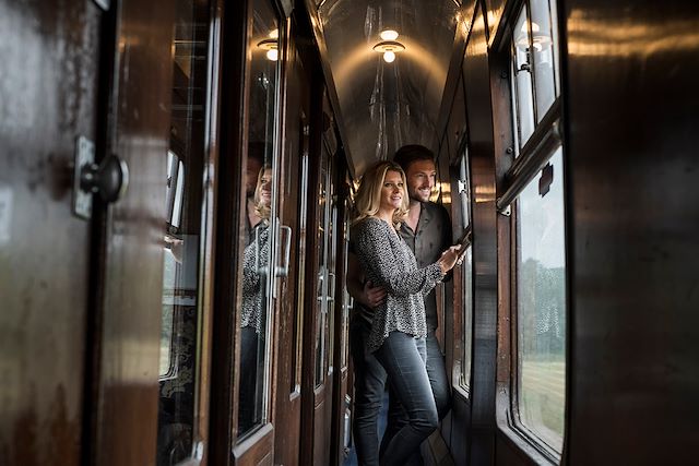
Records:
<instances>
[{"instance_id":1,"label":"bearded man in dark shirt standing behind the blonde woman","mask_svg":"<svg viewBox=\"0 0 699 466\"><path fill-rule=\"evenodd\" d=\"M436 262L442 251L451 246L449 214L441 205L429 202L437 174L435 157L425 146L406 145L395 153L393 160L405 171L410 195L410 212L399 234L415 253L417 266L424 267ZM368 334L367 328L370 330L371 308L386 299L386 291L380 287L374 287L370 283L362 284L359 266L353 254L350 254L347 264L347 291L360 303L356 307L358 312L355 311L354 325L351 330L357 398L355 401L355 443L359 464L374 464L376 445L371 441L377 442L376 418L381 406L386 372L374 356L367 354L362 346ZM441 420L449 411L451 393L445 358L435 335L438 318L434 290L425 297L425 314L427 318L427 373ZM389 421L381 441L381 451L406 422L406 416L395 399L398 399L395 396L390 396ZM363 463L363 456L366 456L366 463ZM378 454L376 458L378 462ZM414 463L419 463L419 458Z\"/></svg>"}]
</instances>

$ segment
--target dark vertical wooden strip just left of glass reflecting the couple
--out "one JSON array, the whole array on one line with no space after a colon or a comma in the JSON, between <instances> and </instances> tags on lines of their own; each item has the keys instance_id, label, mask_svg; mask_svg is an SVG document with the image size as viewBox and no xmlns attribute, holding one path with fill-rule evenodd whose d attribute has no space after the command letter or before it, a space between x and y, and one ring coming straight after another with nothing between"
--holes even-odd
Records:
<instances>
[{"instance_id":1,"label":"dark vertical wooden strip just left of glass reflecting the couple","mask_svg":"<svg viewBox=\"0 0 699 466\"><path fill-rule=\"evenodd\" d=\"M214 315L211 369L211 428L209 464L233 464L232 446L238 419L237 377L239 342L236 340L236 313L241 292L238 279L242 273L244 238L240 235L245 215L245 140L244 95L247 47L247 3L218 0L223 10L221 36L221 131L216 174L216 225L214 272Z\"/></svg>"}]
</instances>

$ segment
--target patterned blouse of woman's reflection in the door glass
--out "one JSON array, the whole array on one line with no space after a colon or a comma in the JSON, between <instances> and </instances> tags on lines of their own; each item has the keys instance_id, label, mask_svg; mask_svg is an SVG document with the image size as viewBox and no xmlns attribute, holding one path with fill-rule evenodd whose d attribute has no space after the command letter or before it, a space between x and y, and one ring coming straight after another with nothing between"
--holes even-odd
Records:
<instances>
[{"instance_id":1,"label":"patterned blouse of woman's reflection in the door glass","mask_svg":"<svg viewBox=\"0 0 699 466\"><path fill-rule=\"evenodd\" d=\"M264 297L265 275L257 268L266 265L270 260L270 228L260 224L254 230L253 241L242 253L242 312L241 327L254 327L259 334L262 327L262 299ZM256 259L257 258L257 259ZM256 264L257 262L257 264Z\"/></svg>"}]
</instances>

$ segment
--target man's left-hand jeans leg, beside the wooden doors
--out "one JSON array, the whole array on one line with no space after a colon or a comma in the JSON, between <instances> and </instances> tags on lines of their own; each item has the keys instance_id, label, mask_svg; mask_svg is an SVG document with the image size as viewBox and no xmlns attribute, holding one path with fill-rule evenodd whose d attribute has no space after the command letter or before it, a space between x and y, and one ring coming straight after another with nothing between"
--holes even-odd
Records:
<instances>
[{"instance_id":1,"label":"man's left-hand jeans leg, beside the wooden doors","mask_svg":"<svg viewBox=\"0 0 699 466\"><path fill-rule=\"evenodd\" d=\"M354 421L352 433L359 466L379 465L378 417L386 386L386 371L367 350L371 324L355 318L350 326L354 366Z\"/></svg>"}]
</instances>

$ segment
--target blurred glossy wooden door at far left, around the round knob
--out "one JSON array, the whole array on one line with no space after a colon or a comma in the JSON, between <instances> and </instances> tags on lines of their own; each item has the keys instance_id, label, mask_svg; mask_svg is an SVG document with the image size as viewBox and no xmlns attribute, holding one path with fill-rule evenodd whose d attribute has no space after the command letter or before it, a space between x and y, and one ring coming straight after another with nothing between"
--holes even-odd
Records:
<instances>
[{"instance_id":1,"label":"blurred glossy wooden door at far left, around the round knob","mask_svg":"<svg viewBox=\"0 0 699 466\"><path fill-rule=\"evenodd\" d=\"M169 3L3 1L0 24L0 463L153 464ZM91 220L76 147L131 172Z\"/></svg>"}]
</instances>

